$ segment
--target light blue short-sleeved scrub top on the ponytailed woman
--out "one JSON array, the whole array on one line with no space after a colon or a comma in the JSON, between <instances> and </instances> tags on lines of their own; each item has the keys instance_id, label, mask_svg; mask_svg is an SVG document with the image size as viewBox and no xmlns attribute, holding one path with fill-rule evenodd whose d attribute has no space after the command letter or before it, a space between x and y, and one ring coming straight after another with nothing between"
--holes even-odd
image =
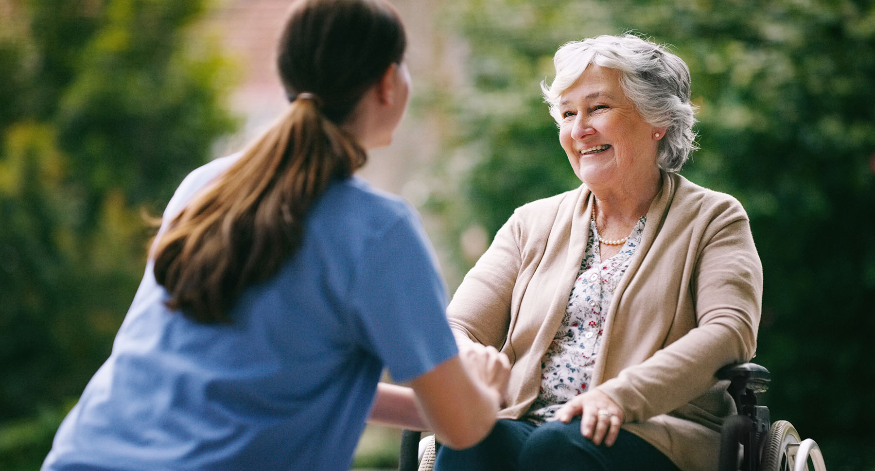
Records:
<instances>
[{"instance_id":1,"label":"light blue short-sleeved scrub top on the ponytailed woman","mask_svg":"<svg viewBox=\"0 0 875 471\"><path fill-rule=\"evenodd\" d=\"M192 172L165 223L235 158ZM418 216L358 178L328 187L229 325L168 310L152 268L43 471L346 471L382 369L406 382L457 354Z\"/></svg>"}]
</instances>

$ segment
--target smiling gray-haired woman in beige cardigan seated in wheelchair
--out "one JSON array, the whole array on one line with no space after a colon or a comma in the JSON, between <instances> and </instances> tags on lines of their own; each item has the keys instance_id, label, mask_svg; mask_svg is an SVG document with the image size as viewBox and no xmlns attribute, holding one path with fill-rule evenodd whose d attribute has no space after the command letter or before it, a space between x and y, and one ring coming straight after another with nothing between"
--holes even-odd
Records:
<instances>
[{"instance_id":1,"label":"smiling gray-haired woman in beige cardigan seated in wheelchair","mask_svg":"<svg viewBox=\"0 0 875 471\"><path fill-rule=\"evenodd\" d=\"M676 172L695 147L683 60L633 35L562 46L542 85L583 182L519 207L449 306L512 363L502 418L436 469L713 470L754 355L762 267L745 210Z\"/></svg>"}]
</instances>

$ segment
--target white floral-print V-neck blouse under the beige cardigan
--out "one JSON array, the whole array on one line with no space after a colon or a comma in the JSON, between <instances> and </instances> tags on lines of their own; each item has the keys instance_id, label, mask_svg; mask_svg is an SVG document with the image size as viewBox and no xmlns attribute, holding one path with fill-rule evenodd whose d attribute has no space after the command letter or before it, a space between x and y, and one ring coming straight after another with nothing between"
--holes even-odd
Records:
<instances>
[{"instance_id":1,"label":"white floral-print V-neck blouse under the beige cardigan","mask_svg":"<svg viewBox=\"0 0 875 471\"><path fill-rule=\"evenodd\" d=\"M605 313L641 244L645 222L647 216L641 216L620 252L602 261L595 241L595 222L590 221L590 238L562 325L541 360L541 390L523 419L537 424L550 420L562 404L589 389Z\"/></svg>"}]
</instances>

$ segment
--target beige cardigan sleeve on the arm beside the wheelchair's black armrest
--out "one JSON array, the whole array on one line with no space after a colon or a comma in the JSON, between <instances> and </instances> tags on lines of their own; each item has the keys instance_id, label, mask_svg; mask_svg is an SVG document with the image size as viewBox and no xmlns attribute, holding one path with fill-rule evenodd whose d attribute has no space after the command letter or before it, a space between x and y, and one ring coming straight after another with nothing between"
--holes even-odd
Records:
<instances>
[{"instance_id":1,"label":"beige cardigan sleeve on the arm beside the wheelchair's black armrest","mask_svg":"<svg viewBox=\"0 0 875 471\"><path fill-rule=\"evenodd\" d=\"M703 397L717 383L718 369L754 355L762 266L746 214L733 202L711 220L700 240L691 241L695 259L688 293L696 326L598 386L620 404L629 422L675 411Z\"/></svg>"}]
</instances>

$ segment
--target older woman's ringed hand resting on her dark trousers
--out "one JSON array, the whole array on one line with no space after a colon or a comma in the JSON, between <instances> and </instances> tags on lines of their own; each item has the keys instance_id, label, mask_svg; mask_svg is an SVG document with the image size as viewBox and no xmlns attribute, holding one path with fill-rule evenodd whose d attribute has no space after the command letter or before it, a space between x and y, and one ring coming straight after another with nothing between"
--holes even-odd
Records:
<instances>
[{"instance_id":1,"label":"older woman's ringed hand resting on her dark trousers","mask_svg":"<svg viewBox=\"0 0 875 471\"><path fill-rule=\"evenodd\" d=\"M592 443L612 446L623 424L623 410L610 397L599 390L589 390L573 397L556 411L556 418L569 423L580 415L580 432Z\"/></svg>"}]
</instances>

